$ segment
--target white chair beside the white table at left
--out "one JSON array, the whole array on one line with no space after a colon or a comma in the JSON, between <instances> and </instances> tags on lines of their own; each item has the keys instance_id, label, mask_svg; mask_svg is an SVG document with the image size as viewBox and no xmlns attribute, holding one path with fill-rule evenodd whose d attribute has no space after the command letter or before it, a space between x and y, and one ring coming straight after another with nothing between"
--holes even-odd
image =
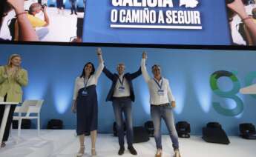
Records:
<instances>
[{"instance_id":1,"label":"white chair beside the white table at left","mask_svg":"<svg viewBox=\"0 0 256 157\"><path fill-rule=\"evenodd\" d=\"M21 136L22 119L37 119L37 134L40 132L40 111L44 100L25 100L22 106L16 107L14 113L18 116L13 116L13 120L18 120L18 138ZM37 114L30 116L30 114Z\"/></svg>"}]
</instances>

